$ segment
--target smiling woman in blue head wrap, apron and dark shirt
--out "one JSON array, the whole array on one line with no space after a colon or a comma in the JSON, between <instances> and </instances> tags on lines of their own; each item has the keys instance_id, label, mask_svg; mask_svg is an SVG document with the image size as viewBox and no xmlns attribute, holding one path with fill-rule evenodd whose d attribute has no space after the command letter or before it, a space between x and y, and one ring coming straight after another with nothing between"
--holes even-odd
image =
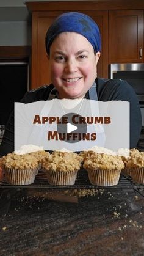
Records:
<instances>
[{"instance_id":1,"label":"smiling woman in blue head wrap, apron and dark shirt","mask_svg":"<svg viewBox=\"0 0 144 256\"><path fill-rule=\"evenodd\" d=\"M83 13L64 13L49 27L45 43L52 84L27 92L21 102L51 100L54 97L129 101L130 148L136 147L141 130L139 102L127 82L97 78L101 37L95 21ZM13 120L12 114L0 147L1 156L14 150Z\"/></svg>"}]
</instances>

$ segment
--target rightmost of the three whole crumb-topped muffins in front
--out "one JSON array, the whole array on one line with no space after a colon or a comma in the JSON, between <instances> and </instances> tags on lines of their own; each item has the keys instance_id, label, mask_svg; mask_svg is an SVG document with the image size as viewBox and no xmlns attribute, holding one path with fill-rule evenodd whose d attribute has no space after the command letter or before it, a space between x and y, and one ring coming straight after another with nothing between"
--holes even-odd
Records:
<instances>
[{"instance_id":1,"label":"rightmost of the three whole crumb-topped muffins in front","mask_svg":"<svg viewBox=\"0 0 144 256\"><path fill-rule=\"evenodd\" d=\"M92 185L114 186L118 184L124 163L121 156L93 152L84 160L83 167Z\"/></svg>"}]
</instances>

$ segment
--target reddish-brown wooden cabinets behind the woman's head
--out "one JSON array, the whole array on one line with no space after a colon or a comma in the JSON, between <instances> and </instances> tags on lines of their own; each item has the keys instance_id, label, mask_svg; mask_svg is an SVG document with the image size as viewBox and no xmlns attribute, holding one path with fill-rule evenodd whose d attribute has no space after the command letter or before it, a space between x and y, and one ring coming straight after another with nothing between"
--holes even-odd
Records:
<instances>
[{"instance_id":1,"label":"reddish-brown wooden cabinets behind the woman's head","mask_svg":"<svg viewBox=\"0 0 144 256\"><path fill-rule=\"evenodd\" d=\"M52 21L64 12L86 13L98 24L102 39L99 77L109 77L110 63L144 62L143 0L48 1L26 5L32 12L31 88L51 82L45 35Z\"/></svg>"}]
</instances>

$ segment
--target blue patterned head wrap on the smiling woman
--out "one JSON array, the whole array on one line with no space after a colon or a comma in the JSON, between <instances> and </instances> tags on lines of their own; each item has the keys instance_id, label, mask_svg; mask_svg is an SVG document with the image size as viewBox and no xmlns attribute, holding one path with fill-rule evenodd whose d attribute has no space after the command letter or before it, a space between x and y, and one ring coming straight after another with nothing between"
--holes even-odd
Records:
<instances>
[{"instance_id":1,"label":"blue patterned head wrap on the smiling woman","mask_svg":"<svg viewBox=\"0 0 144 256\"><path fill-rule=\"evenodd\" d=\"M95 53L101 50L101 35L95 21L84 13L67 12L58 16L46 33L45 44L48 55L54 38L62 32L77 32L87 38Z\"/></svg>"}]
</instances>

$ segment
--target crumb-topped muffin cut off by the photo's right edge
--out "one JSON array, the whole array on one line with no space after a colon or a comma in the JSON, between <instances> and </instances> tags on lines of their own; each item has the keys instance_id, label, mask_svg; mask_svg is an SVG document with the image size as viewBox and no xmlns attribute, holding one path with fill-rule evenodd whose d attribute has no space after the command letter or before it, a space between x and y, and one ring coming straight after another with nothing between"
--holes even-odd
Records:
<instances>
[{"instance_id":1,"label":"crumb-topped muffin cut off by the photo's right edge","mask_svg":"<svg viewBox=\"0 0 144 256\"><path fill-rule=\"evenodd\" d=\"M126 166L131 169L132 180L144 184L144 153L139 152L136 156L131 157Z\"/></svg>"}]
</instances>

